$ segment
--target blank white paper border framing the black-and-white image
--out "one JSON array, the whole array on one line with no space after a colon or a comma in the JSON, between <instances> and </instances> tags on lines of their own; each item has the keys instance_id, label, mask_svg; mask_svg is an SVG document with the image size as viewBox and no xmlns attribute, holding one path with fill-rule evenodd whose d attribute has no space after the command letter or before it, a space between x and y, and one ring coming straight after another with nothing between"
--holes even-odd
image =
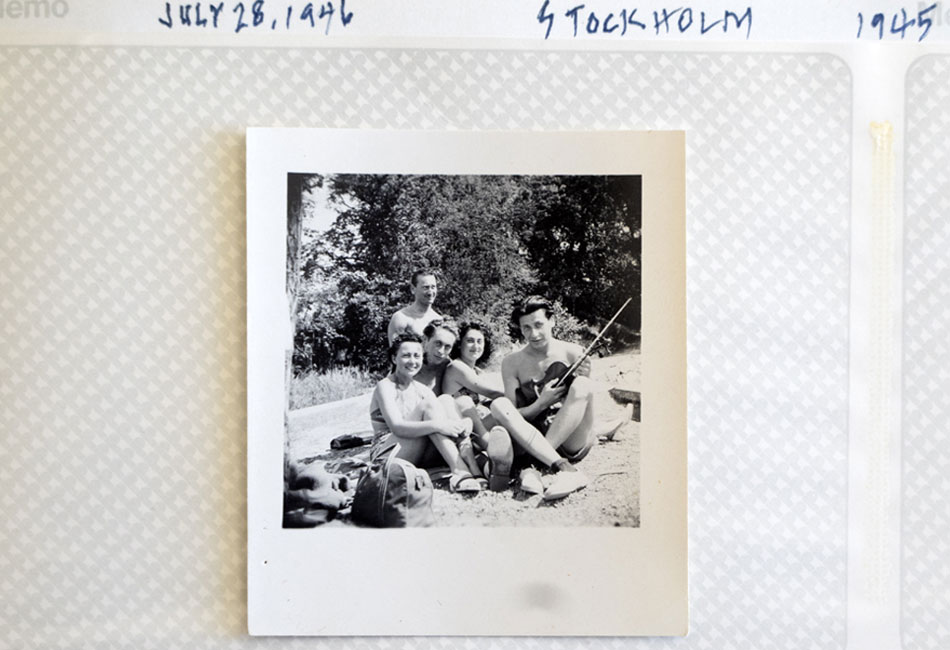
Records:
<instances>
[{"instance_id":1,"label":"blank white paper border framing the black-and-white image","mask_svg":"<svg viewBox=\"0 0 950 650\"><path fill-rule=\"evenodd\" d=\"M685 134L247 131L254 635L683 635ZM639 528L284 529L287 174L643 177Z\"/></svg>"}]
</instances>

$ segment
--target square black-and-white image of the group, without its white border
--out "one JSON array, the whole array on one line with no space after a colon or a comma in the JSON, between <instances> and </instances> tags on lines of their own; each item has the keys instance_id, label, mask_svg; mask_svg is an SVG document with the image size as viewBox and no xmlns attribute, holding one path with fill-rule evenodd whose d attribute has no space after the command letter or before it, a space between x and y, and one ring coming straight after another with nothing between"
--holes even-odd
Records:
<instances>
[{"instance_id":1,"label":"square black-and-white image of the group, without its white border","mask_svg":"<svg viewBox=\"0 0 950 650\"><path fill-rule=\"evenodd\" d=\"M641 184L288 174L283 526L638 526Z\"/></svg>"}]
</instances>

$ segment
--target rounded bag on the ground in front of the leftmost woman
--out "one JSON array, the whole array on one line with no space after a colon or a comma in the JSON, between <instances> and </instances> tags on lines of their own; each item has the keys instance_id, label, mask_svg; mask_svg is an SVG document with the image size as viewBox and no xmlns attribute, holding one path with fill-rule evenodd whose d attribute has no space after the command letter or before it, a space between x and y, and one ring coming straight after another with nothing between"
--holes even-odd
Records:
<instances>
[{"instance_id":1,"label":"rounded bag on the ground in front of the leftmost woman","mask_svg":"<svg viewBox=\"0 0 950 650\"><path fill-rule=\"evenodd\" d=\"M431 526L432 480L396 450L367 468L353 495L353 521L376 528Z\"/></svg>"}]
</instances>

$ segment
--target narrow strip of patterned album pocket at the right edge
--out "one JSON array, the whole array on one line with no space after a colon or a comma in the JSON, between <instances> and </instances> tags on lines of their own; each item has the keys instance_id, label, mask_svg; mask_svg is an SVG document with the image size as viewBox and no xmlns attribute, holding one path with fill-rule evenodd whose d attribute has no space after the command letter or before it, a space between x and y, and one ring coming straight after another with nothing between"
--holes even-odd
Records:
<instances>
[{"instance_id":1,"label":"narrow strip of patterned album pocket at the right edge","mask_svg":"<svg viewBox=\"0 0 950 650\"><path fill-rule=\"evenodd\" d=\"M950 647L950 57L907 73L902 632Z\"/></svg>"}]
</instances>

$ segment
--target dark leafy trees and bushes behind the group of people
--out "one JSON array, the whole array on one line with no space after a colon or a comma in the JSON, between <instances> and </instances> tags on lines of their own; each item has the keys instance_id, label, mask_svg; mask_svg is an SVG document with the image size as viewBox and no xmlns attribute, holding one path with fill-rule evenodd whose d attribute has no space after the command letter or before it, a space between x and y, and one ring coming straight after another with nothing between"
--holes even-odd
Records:
<instances>
[{"instance_id":1,"label":"dark leafy trees and bushes behind the group of people","mask_svg":"<svg viewBox=\"0 0 950 650\"><path fill-rule=\"evenodd\" d=\"M288 281L297 287L297 373L335 364L384 371L389 317L411 300L409 277L421 268L437 271L437 311L483 322L496 349L510 344L512 304L529 293L558 302L560 337L589 339L587 323L602 325L629 296L621 320L639 331L639 177L291 179L303 193L325 188L337 214L303 238L289 265L299 280ZM314 201L288 196L288 206L306 230Z\"/></svg>"}]
</instances>

